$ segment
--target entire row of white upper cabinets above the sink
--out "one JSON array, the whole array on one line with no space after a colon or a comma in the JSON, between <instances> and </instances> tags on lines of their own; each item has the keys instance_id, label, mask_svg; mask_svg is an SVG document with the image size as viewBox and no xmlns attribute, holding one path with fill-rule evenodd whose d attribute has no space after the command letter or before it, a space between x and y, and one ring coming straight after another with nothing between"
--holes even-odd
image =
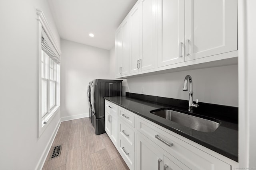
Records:
<instances>
[{"instance_id":1,"label":"entire row of white upper cabinets above the sink","mask_svg":"<svg viewBox=\"0 0 256 170\"><path fill-rule=\"evenodd\" d=\"M116 31L116 77L234 63L237 3L138 0Z\"/></svg>"}]
</instances>

